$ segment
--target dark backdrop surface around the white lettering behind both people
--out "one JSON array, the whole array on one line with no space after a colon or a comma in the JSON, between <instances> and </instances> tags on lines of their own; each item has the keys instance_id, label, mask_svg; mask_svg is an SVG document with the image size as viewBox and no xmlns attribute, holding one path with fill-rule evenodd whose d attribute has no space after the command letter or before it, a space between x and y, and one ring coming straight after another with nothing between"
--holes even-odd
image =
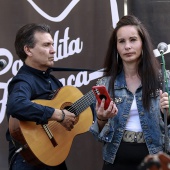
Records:
<instances>
[{"instance_id":1,"label":"dark backdrop surface around the white lettering behind both people","mask_svg":"<svg viewBox=\"0 0 170 170\"><path fill-rule=\"evenodd\" d=\"M34 2L47 14L58 16L71 0L34 0ZM124 15L124 1L117 0L119 18ZM170 39L170 1L154 0L127 0L128 13L136 15L147 27L154 43L154 48L160 42L169 44ZM51 26L53 35L59 31L59 39L69 27L69 40L80 38L83 42L81 53L76 53L55 62L55 67L86 68L98 70L103 67L110 34L113 30L110 1L106 0L80 0L69 15L61 22L52 22L41 16L25 0L0 1L0 51L5 48L12 54L13 65L5 74L0 74L0 96L6 91L2 88L14 75L15 62L18 57L14 50L14 40L17 30L30 22L46 23ZM169 53L165 54L166 67L170 67ZM6 59L1 56L0 59ZM158 58L160 60L160 58ZM1 70L0 70L1 73ZM78 72L54 72L56 77L65 78L70 75L77 76ZM90 72L88 72L88 75ZM91 90L96 80L87 85L78 87L83 94ZM6 85L7 86L7 85ZM5 98L0 97L0 114L4 114L2 104ZM5 139L7 129L6 117L0 124L0 169L7 170L8 143ZM66 159L69 170L101 170L102 144L97 142L91 133L87 132L74 138L70 153Z\"/></svg>"}]
</instances>

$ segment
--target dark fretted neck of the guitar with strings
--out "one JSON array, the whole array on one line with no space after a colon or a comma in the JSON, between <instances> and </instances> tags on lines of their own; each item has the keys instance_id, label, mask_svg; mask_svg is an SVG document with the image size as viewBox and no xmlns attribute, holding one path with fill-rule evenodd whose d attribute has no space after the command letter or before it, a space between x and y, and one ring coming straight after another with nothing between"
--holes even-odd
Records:
<instances>
[{"instance_id":1,"label":"dark fretted neck of the guitar with strings","mask_svg":"<svg viewBox=\"0 0 170 170\"><path fill-rule=\"evenodd\" d=\"M69 107L68 111L78 116L85 109L87 109L94 101L95 101L95 96L94 96L93 91L91 90L87 94L85 94L82 98L80 98L75 103L73 103Z\"/></svg>"}]
</instances>

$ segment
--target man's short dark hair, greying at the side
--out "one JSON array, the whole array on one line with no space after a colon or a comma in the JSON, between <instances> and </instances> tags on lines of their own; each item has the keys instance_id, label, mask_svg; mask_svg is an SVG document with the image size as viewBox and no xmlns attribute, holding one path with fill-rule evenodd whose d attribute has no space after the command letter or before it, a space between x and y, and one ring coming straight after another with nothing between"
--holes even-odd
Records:
<instances>
[{"instance_id":1,"label":"man's short dark hair, greying at the side","mask_svg":"<svg viewBox=\"0 0 170 170\"><path fill-rule=\"evenodd\" d=\"M51 33L49 25L31 23L21 27L16 34L15 51L23 62L25 62L25 59L27 58L24 46L27 45L30 48L34 48L35 46L35 32Z\"/></svg>"}]
</instances>

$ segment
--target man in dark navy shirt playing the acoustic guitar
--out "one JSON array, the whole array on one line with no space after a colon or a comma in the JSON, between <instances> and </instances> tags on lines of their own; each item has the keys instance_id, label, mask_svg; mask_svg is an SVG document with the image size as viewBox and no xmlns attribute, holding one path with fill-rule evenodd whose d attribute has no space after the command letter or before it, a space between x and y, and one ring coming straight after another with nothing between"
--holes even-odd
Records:
<instances>
[{"instance_id":1,"label":"man in dark navy shirt playing the acoustic guitar","mask_svg":"<svg viewBox=\"0 0 170 170\"><path fill-rule=\"evenodd\" d=\"M8 86L8 119L12 116L42 125L54 120L70 131L74 126L75 114L32 102L34 99L51 99L54 92L62 87L61 82L50 74L55 50L49 26L27 24L20 28L15 39L15 50L24 64ZM18 148L14 145L9 130L6 137L9 141L11 170L67 170L65 162L56 167L32 166L20 153L16 154Z\"/></svg>"}]
</instances>

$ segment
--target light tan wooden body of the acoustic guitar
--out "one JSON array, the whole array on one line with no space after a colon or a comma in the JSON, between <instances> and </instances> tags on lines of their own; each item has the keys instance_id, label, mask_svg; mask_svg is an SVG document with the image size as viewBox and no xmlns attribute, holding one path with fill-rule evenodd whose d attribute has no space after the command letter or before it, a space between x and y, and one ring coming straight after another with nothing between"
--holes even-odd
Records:
<instances>
[{"instance_id":1,"label":"light tan wooden body of the acoustic guitar","mask_svg":"<svg viewBox=\"0 0 170 170\"><path fill-rule=\"evenodd\" d=\"M32 102L64 109L82 96L83 94L77 88L65 86L59 90L52 100L33 100ZM56 121L49 121L47 127L53 136L51 140L42 125L36 125L35 122L18 121L10 117L9 130L14 141L24 145L21 154L26 161L36 166L42 163L56 166L67 158L74 137L87 132L92 125L93 115L90 107L81 112L76 119L76 124L71 131L67 131ZM56 144L52 142L53 140L56 141Z\"/></svg>"}]
</instances>

